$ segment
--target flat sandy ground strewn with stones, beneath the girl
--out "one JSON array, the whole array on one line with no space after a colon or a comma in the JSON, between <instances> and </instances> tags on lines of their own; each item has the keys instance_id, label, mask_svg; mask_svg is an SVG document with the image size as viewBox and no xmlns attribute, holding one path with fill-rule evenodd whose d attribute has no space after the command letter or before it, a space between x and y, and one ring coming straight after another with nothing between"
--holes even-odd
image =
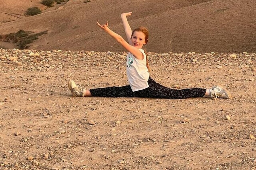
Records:
<instances>
[{"instance_id":1,"label":"flat sandy ground strewn with stones, beneath the girl","mask_svg":"<svg viewBox=\"0 0 256 170\"><path fill-rule=\"evenodd\" d=\"M127 85L125 55L0 49L0 169L256 169L255 53L149 52L157 82L232 100L71 96Z\"/></svg>"}]
</instances>

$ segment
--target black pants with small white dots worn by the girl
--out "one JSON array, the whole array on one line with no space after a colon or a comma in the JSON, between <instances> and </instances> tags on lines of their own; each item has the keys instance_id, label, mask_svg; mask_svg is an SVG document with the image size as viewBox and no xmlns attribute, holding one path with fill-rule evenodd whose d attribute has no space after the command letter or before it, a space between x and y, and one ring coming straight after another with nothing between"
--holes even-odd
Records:
<instances>
[{"instance_id":1,"label":"black pants with small white dots worn by the girl","mask_svg":"<svg viewBox=\"0 0 256 170\"><path fill-rule=\"evenodd\" d=\"M145 97L161 99L186 99L190 97L203 97L206 89L170 89L156 83L152 78L148 79L149 87L143 90L133 92L130 85L122 87L106 87L91 89L92 96L95 97Z\"/></svg>"}]
</instances>

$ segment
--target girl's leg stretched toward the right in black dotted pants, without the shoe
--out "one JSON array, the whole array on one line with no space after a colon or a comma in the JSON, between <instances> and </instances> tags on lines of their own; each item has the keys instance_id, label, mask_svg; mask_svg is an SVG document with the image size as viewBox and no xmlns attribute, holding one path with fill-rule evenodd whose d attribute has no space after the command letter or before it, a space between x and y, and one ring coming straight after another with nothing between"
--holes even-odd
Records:
<instances>
[{"instance_id":1,"label":"girl's leg stretched toward the right in black dotted pants, without the shoe","mask_svg":"<svg viewBox=\"0 0 256 170\"><path fill-rule=\"evenodd\" d=\"M151 97L164 99L186 99L190 97L203 97L206 94L206 89L191 88L191 89L170 89L156 83L149 77L149 88L135 92L136 97Z\"/></svg>"}]
</instances>

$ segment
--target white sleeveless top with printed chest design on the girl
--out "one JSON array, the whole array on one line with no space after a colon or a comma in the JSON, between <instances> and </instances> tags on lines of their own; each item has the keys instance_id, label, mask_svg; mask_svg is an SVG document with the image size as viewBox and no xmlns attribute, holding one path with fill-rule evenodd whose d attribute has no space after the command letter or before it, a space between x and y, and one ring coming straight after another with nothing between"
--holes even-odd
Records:
<instances>
[{"instance_id":1,"label":"white sleeveless top with printed chest design on the girl","mask_svg":"<svg viewBox=\"0 0 256 170\"><path fill-rule=\"evenodd\" d=\"M142 60L135 58L132 53L128 53L126 57L126 73L133 92L149 87L146 54L143 49L139 50L144 55Z\"/></svg>"}]
</instances>

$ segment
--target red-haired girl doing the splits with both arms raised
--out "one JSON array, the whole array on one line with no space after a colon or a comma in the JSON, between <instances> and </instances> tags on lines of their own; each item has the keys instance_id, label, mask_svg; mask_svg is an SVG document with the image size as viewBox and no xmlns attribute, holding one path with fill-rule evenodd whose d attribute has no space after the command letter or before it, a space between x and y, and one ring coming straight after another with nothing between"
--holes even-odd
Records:
<instances>
[{"instance_id":1,"label":"red-haired girl doing the splits with both arms raised","mask_svg":"<svg viewBox=\"0 0 256 170\"><path fill-rule=\"evenodd\" d=\"M144 27L139 27L132 32L126 18L127 16L131 15L131 13L132 12L128 12L121 15L125 34L129 43L127 43L120 35L110 30L108 28L108 22L104 25L97 23L102 30L104 30L129 51L126 58L126 73L129 85L86 90L77 86L73 80L70 80L68 83L68 88L71 91L72 96L147 97L165 99L185 99L190 97L232 98L229 91L220 85L214 86L211 89L191 88L175 90L156 83L149 76L147 54L142 49L142 46L148 42L148 30Z\"/></svg>"}]
</instances>

